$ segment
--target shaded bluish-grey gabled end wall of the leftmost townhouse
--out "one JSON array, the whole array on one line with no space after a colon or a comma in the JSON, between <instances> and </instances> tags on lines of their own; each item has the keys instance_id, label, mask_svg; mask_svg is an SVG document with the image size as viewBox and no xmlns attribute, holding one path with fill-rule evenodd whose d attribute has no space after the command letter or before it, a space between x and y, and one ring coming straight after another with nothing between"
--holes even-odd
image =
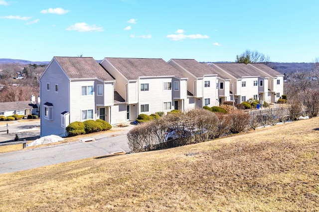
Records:
<instances>
[{"instance_id":1,"label":"shaded bluish-grey gabled end wall of the leftmost townhouse","mask_svg":"<svg viewBox=\"0 0 319 212\"><path fill-rule=\"evenodd\" d=\"M41 116L41 135L62 135L64 128L61 126L61 112L69 111L69 80L65 72L53 60L40 79L41 113L44 114L46 102L53 104L53 120L47 120ZM47 83L50 83L50 91L47 91ZM55 92L55 85L58 92Z\"/></svg>"}]
</instances>

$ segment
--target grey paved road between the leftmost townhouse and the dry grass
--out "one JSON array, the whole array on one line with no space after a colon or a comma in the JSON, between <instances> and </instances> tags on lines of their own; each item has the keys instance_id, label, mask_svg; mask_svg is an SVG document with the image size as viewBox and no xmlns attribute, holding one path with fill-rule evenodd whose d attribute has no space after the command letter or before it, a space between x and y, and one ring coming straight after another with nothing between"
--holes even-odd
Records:
<instances>
[{"instance_id":1,"label":"grey paved road between the leftmost townhouse and the dry grass","mask_svg":"<svg viewBox=\"0 0 319 212\"><path fill-rule=\"evenodd\" d=\"M100 157L115 152L130 152L127 132L134 126L95 135L94 142L70 142L65 144L35 147L0 154L0 174L22 171L41 166L69 162L79 159ZM84 139L84 138L81 138Z\"/></svg>"}]
</instances>

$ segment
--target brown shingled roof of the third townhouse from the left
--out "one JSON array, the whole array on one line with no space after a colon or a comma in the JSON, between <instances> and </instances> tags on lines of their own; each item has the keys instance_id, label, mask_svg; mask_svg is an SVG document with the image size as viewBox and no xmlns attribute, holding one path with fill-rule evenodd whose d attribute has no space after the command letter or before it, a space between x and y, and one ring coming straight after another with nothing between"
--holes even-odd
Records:
<instances>
[{"instance_id":1,"label":"brown shingled roof of the third townhouse from the left","mask_svg":"<svg viewBox=\"0 0 319 212\"><path fill-rule=\"evenodd\" d=\"M199 63L194 59L171 59L171 61L174 61L195 77L204 77L204 75L217 74L214 68L205 63Z\"/></svg>"}]
</instances>

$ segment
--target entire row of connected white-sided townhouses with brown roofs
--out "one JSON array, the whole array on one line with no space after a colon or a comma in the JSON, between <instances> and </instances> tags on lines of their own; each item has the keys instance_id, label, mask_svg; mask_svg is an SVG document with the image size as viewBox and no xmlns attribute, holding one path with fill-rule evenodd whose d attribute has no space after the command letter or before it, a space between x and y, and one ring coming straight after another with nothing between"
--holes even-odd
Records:
<instances>
[{"instance_id":1,"label":"entire row of connected white-sided townhouses with brown roofs","mask_svg":"<svg viewBox=\"0 0 319 212\"><path fill-rule=\"evenodd\" d=\"M40 79L41 136L65 136L74 121L111 124L140 113L241 103L276 102L283 75L263 64L212 63L193 59L54 57Z\"/></svg>"}]
</instances>

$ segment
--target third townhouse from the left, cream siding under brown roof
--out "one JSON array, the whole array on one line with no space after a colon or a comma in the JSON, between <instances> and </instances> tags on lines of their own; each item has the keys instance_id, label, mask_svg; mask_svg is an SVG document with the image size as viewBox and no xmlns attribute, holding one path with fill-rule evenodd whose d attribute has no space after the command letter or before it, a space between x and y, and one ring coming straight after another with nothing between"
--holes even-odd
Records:
<instances>
[{"instance_id":1,"label":"third townhouse from the left, cream siding under brown roof","mask_svg":"<svg viewBox=\"0 0 319 212\"><path fill-rule=\"evenodd\" d=\"M213 68L194 59L171 59L167 62L188 78L186 108L218 106L218 79ZM193 98L193 99L192 99Z\"/></svg>"}]
</instances>

